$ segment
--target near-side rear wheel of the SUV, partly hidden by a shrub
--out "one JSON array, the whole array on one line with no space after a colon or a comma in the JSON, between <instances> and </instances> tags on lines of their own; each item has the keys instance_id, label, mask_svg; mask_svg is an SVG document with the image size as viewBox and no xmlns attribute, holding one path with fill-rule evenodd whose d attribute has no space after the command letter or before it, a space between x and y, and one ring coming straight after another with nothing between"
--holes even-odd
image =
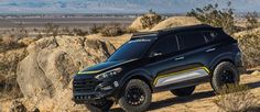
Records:
<instances>
[{"instance_id":1,"label":"near-side rear wheel of the SUV, partly hidden by a shrub","mask_svg":"<svg viewBox=\"0 0 260 112\"><path fill-rule=\"evenodd\" d=\"M213 72L212 87L216 93L219 93L224 86L238 85L239 79L237 67L229 61L223 61L217 65Z\"/></svg>"}]
</instances>

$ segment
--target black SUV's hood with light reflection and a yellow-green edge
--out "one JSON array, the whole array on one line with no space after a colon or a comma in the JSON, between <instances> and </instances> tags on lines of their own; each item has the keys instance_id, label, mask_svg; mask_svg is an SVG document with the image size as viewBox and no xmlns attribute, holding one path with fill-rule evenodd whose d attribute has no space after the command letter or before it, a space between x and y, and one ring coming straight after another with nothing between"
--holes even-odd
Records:
<instances>
[{"instance_id":1,"label":"black SUV's hood with light reflection and a yellow-green edge","mask_svg":"<svg viewBox=\"0 0 260 112\"><path fill-rule=\"evenodd\" d=\"M130 61L134 61L137 59L130 59L130 60L117 60L117 61L104 61L100 64L97 64L95 66L85 68L84 70L79 71L78 74L99 74L99 72L104 72L107 71L109 69L116 68L118 66L121 66L123 64L130 63Z\"/></svg>"}]
</instances>

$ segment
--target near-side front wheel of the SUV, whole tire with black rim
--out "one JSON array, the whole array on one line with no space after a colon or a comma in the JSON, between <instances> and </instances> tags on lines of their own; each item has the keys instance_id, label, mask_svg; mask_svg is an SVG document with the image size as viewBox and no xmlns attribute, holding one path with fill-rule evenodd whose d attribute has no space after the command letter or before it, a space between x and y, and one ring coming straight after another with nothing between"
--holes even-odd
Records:
<instances>
[{"instance_id":1,"label":"near-side front wheel of the SUV, whole tire with black rim","mask_svg":"<svg viewBox=\"0 0 260 112\"><path fill-rule=\"evenodd\" d=\"M130 80L119 98L119 105L127 112L143 112L151 104L150 87L142 80Z\"/></svg>"}]
</instances>

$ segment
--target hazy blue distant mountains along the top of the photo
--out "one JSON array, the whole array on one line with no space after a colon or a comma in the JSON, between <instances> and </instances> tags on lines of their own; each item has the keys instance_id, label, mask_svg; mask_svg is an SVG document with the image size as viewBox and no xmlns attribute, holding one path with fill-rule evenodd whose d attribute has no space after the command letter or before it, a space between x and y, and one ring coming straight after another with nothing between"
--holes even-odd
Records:
<instances>
[{"instance_id":1,"label":"hazy blue distant mountains along the top of the photo","mask_svg":"<svg viewBox=\"0 0 260 112\"><path fill-rule=\"evenodd\" d=\"M225 8L228 0L0 0L0 13L185 13L208 3ZM237 12L260 12L260 0L229 0Z\"/></svg>"}]
</instances>

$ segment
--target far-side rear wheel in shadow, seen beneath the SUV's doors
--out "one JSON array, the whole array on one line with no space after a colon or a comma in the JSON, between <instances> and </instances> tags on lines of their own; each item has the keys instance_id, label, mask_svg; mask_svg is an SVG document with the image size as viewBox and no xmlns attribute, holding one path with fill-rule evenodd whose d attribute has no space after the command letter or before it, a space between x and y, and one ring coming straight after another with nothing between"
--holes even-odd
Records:
<instances>
[{"instance_id":1,"label":"far-side rear wheel in shadow, seen beneath the SUV's doors","mask_svg":"<svg viewBox=\"0 0 260 112\"><path fill-rule=\"evenodd\" d=\"M174 90L171 90L171 92L177 97L186 97L186 96L191 96L193 91L195 90L195 88L196 86L174 89Z\"/></svg>"}]
</instances>

